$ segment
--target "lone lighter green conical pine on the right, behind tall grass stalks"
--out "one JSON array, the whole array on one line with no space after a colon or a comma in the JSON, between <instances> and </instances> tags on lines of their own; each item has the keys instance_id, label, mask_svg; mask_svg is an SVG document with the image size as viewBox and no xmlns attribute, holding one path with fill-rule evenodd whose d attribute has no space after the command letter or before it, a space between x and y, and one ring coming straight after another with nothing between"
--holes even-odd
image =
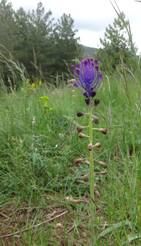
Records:
<instances>
[{"instance_id":1,"label":"lone lighter green conical pine on the right, behind tall grass stalks","mask_svg":"<svg viewBox=\"0 0 141 246\"><path fill-rule=\"evenodd\" d=\"M130 37L127 33L128 26L130 26L129 21L121 12L114 19L113 25L106 28L104 39L100 39L102 48L97 53L104 70L115 70L121 61L124 64L130 64L135 47L131 47Z\"/></svg>"}]
</instances>

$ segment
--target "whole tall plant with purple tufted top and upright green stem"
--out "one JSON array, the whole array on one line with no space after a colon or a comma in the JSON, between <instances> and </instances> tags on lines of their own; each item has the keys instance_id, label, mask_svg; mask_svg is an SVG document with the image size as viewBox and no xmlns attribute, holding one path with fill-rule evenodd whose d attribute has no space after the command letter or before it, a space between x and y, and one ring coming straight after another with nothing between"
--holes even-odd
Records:
<instances>
[{"instance_id":1,"label":"whole tall plant with purple tufted top and upright green stem","mask_svg":"<svg viewBox=\"0 0 141 246\"><path fill-rule=\"evenodd\" d=\"M107 133L106 128L94 128L93 122L98 123L99 119L94 115L94 107L99 104L99 100L95 99L96 91L101 85L102 73L99 69L99 61L92 58L85 58L79 64L72 65L72 73L75 78L74 86L81 88L85 102L88 105L88 112L78 112L77 116L88 116L88 125L77 128L80 138L88 138L89 151L89 186L90 186L90 208L91 216L94 216L94 148L100 147L100 143L94 143L94 130ZM83 131L88 129L87 134Z\"/></svg>"}]
</instances>

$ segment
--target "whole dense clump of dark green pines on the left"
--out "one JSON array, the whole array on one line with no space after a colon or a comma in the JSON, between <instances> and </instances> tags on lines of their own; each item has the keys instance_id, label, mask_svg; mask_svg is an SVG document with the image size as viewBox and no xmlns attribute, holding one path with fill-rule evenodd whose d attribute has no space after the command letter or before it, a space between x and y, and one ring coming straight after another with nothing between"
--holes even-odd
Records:
<instances>
[{"instance_id":1,"label":"whole dense clump of dark green pines on the left","mask_svg":"<svg viewBox=\"0 0 141 246\"><path fill-rule=\"evenodd\" d=\"M13 10L6 0L0 2L0 52L9 51L13 60L23 64L29 77L48 81L50 76L68 72L67 65L79 57L74 21L63 15L54 21L51 11L38 3L36 10ZM3 69L0 66L0 70ZM8 76L7 79L8 80Z\"/></svg>"}]
</instances>

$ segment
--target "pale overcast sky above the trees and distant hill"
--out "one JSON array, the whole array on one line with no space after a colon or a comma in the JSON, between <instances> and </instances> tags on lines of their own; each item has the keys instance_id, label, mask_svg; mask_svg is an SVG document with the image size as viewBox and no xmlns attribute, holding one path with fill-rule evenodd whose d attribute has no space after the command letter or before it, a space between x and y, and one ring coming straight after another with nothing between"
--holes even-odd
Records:
<instances>
[{"instance_id":1,"label":"pale overcast sky above the trees and distant hill","mask_svg":"<svg viewBox=\"0 0 141 246\"><path fill-rule=\"evenodd\" d=\"M10 0L9 0L10 1ZM39 0L11 0L14 8L36 8ZM78 29L80 43L99 47L99 38L103 37L105 28L116 16L109 0L42 0L46 10L59 18L63 13L71 14ZM130 20L133 40L141 52L141 3L135 0L117 0L118 6Z\"/></svg>"}]
</instances>

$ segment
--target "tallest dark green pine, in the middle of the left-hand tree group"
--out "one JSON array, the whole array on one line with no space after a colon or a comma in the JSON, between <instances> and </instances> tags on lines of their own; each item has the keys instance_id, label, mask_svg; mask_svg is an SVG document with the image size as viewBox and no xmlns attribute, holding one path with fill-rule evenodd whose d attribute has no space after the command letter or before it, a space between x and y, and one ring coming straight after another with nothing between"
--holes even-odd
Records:
<instances>
[{"instance_id":1,"label":"tallest dark green pine, in the middle of the left-hand tree group","mask_svg":"<svg viewBox=\"0 0 141 246\"><path fill-rule=\"evenodd\" d=\"M16 58L22 62L33 77L44 78L47 75L47 57L50 52L50 36L52 32L52 13L45 12L42 3L37 9L26 13L19 9L16 13L17 46Z\"/></svg>"}]
</instances>

